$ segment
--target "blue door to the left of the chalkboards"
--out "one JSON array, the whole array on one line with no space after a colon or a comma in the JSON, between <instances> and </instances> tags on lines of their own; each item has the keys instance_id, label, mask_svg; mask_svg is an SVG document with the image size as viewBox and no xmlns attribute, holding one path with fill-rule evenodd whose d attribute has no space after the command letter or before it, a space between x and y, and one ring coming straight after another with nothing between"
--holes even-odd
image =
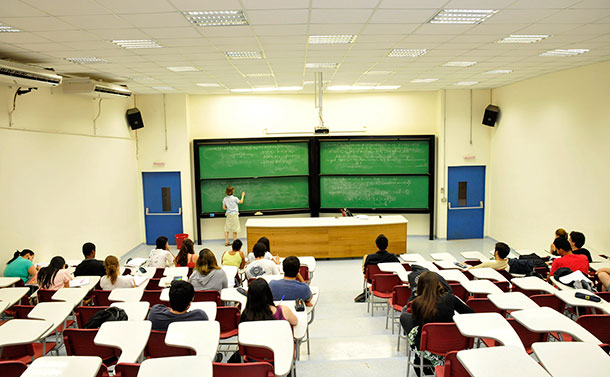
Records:
<instances>
[{"instance_id":1,"label":"blue door to the left of the chalkboards","mask_svg":"<svg viewBox=\"0 0 610 377\"><path fill-rule=\"evenodd\" d=\"M182 233L182 194L180 172L142 173L146 244L154 245L157 237L166 236L176 244Z\"/></svg>"}]
</instances>

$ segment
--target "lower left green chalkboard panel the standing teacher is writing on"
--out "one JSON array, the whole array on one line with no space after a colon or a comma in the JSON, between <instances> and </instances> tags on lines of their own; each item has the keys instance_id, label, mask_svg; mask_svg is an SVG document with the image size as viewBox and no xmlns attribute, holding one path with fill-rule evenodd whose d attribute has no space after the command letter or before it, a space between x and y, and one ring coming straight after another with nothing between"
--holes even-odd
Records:
<instances>
[{"instance_id":1,"label":"lower left green chalkboard panel the standing teacher is writing on","mask_svg":"<svg viewBox=\"0 0 610 377\"><path fill-rule=\"evenodd\" d=\"M309 208L307 177L214 179L201 181L202 212L224 212L222 199L227 186L235 188L237 197L245 191L240 211Z\"/></svg>"}]
</instances>

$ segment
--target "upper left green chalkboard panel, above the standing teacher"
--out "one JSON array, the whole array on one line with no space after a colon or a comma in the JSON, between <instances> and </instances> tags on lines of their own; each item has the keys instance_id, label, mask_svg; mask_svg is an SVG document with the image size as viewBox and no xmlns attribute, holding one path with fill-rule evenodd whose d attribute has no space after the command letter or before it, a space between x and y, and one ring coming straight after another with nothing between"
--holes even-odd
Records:
<instances>
[{"instance_id":1,"label":"upper left green chalkboard panel, above the standing teacher","mask_svg":"<svg viewBox=\"0 0 610 377\"><path fill-rule=\"evenodd\" d=\"M240 178L309 174L309 148L301 143L199 146L200 177Z\"/></svg>"}]
</instances>

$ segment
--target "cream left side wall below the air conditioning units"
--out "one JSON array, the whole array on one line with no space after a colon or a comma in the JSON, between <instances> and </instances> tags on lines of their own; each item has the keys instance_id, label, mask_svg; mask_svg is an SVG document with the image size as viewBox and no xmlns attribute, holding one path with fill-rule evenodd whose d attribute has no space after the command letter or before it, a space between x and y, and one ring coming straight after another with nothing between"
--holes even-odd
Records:
<instances>
[{"instance_id":1,"label":"cream left side wall below the air conditioning units","mask_svg":"<svg viewBox=\"0 0 610 377\"><path fill-rule=\"evenodd\" d=\"M19 249L36 260L122 255L141 242L135 142L125 121L130 100L64 95L58 89L17 98L0 86L0 264Z\"/></svg>"}]
</instances>

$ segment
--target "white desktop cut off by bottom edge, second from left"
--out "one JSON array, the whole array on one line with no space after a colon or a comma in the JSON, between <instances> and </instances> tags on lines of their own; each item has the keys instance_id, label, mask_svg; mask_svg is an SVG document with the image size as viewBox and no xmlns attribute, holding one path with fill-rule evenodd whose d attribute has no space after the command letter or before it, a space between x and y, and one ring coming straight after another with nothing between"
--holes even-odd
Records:
<instances>
[{"instance_id":1,"label":"white desktop cut off by bottom edge, second from left","mask_svg":"<svg viewBox=\"0 0 610 377\"><path fill-rule=\"evenodd\" d=\"M138 377L159 376L212 377L212 360L207 356L173 356L146 359Z\"/></svg>"}]
</instances>

